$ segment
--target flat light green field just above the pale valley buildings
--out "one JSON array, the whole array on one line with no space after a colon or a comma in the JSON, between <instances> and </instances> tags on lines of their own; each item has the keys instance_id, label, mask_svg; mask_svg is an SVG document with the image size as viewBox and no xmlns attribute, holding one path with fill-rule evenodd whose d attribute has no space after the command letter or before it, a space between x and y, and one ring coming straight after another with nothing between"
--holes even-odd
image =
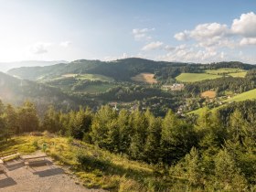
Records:
<instances>
[{"instance_id":1,"label":"flat light green field just above the pale valley buildings","mask_svg":"<svg viewBox=\"0 0 256 192\"><path fill-rule=\"evenodd\" d=\"M176 80L181 82L196 82L200 80L214 80L217 78L221 78L221 76L207 73L181 73L176 77Z\"/></svg>"}]
</instances>

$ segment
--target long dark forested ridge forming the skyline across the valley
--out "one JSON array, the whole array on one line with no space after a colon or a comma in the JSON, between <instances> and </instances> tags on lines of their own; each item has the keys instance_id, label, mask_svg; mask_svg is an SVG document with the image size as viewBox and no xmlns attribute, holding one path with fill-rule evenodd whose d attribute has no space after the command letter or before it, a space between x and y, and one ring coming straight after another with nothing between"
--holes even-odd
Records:
<instances>
[{"instance_id":1,"label":"long dark forested ridge forming the skyline across the valley","mask_svg":"<svg viewBox=\"0 0 256 192\"><path fill-rule=\"evenodd\" d=\"M63 74L101 74L114 80L129 81L139 73L155 73L159 80L175 78L182 72L202 72L206 69L235 68L255 69L256 66L236 61L212 64L189 64L179 62L154 61L149 59L118 59L113 61L80 59L70 63L60 63L45 67L22 67L10 69L9 74L27 80L47 80Z\"/></svg>"}]
</instances>

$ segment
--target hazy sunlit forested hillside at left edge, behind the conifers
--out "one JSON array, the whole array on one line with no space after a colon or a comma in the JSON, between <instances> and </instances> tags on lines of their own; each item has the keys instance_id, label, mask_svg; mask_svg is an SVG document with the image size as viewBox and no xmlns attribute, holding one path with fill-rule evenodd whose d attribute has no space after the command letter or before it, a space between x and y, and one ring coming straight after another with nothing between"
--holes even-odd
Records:
<instances>
[{"instance_id":1,"label":"hazy sunlit forested hillside at left edge, behind the conifers","mask_svg":"<svg viewBox=\"0 0 256 192\"><path fill-rule=\"evenodd\" d=\"M16 105L26 100L33 101L42 112L45 112L49 104L64 110L78 106L76 101L56 88L30 80L19 80L2 72L0 72L0 99Z\"/></svg>"}]
</instances>

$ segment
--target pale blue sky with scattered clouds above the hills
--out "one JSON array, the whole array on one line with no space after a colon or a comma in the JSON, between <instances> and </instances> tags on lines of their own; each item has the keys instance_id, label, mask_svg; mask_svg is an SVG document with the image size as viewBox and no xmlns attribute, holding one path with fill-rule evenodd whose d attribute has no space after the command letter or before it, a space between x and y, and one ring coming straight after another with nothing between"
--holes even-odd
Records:
<instances>
[{"instance_id":1,"label":"pale blue sky with scattered clouds above the hills","mask_svg":"<svg viewBox=\"0 0 256 192\"><path fill-rule=\"evenodd\" d=\"M255 0L0 0L0 62L256 64Z\"/></svg>"}]
</instances>

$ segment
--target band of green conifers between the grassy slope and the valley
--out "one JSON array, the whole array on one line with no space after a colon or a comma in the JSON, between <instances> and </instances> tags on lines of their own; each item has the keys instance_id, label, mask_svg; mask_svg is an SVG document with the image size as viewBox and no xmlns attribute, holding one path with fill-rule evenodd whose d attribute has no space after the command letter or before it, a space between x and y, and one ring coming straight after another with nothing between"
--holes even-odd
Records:
<instances>
[{"instance_id":1,"label":"band of green conifers between the grassy slope and the valley","mask_svg":"<svg viewBox=\"0 0 256 192\"><path fill-rule=\"evenodd\" d=\"M161 167L166 175L206 190L247 191L256 185L256 101L243 101L197 118L180 119L135 110L114 111L101 106L77 112L48 107L39 119L36 107L0 104L0 139L13 134L48 131Z\"/></svg>"}]
</instances>

